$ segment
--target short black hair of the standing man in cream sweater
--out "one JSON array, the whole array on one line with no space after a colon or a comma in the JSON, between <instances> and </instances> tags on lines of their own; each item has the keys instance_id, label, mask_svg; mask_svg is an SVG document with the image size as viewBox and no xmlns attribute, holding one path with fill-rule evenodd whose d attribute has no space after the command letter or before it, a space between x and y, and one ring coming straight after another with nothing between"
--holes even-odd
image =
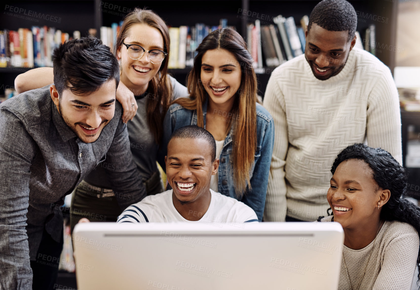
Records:
<instances>
[{"instance_id":1,"label":"short black hair of the standing man in cream sweater","mask_svg":"<svg viewBox=\"0 0 420 290\"><path fill-rule=\"evenodd\" d=\"M308 33L312 23L329 31L348 31L350 41L357 27L357 14L352 4L346 0L323 0L318 3L309 16Z\"/></svg>"}]
</instances>

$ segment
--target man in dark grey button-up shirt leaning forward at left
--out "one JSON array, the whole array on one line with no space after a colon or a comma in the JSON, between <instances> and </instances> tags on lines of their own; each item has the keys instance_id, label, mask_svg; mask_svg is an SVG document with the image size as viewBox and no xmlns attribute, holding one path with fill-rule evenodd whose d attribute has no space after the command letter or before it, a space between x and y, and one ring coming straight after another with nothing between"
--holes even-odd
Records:
<instances>
[{"instance_id":1,"label":"man in dark grey button-up shirt leaning forward at left","mask_svg":"<svg viewBox=\"0 0 420 290\"><path fill-rule=\"evenodd\" d=\"M0 105L1 289L53 289L63 245L58 207L103 156L121 211L145 196L109 47L93 37L68 41L54 50L53 66L54 85Z\"/></svg>"}]
</instances>

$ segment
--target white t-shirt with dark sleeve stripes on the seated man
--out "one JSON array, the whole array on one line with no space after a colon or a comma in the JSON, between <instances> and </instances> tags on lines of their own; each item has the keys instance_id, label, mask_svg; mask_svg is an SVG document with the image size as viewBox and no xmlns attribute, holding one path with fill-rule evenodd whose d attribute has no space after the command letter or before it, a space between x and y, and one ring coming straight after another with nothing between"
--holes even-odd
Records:
<instances>
[{"instance_id":1,"label":"white t-shirt with dark sleeve stripes on the seated man","mask_svg":"<svg viewBox=\"0 0 420 290\"><path fill-rule=\"evenodd\" d=\"M178 213L172 201L172 190L156 195L148 195L142 201L126 208L118 216L117 223L122 222L202 222L205 224L220 223L237 225L244 222L258 221L255 211L249 206L234 198L214 192L210 189L210 206L205 214L191 212L192 216L200 217L198 221L184 219Z\"/></svg>"}]
</instances>

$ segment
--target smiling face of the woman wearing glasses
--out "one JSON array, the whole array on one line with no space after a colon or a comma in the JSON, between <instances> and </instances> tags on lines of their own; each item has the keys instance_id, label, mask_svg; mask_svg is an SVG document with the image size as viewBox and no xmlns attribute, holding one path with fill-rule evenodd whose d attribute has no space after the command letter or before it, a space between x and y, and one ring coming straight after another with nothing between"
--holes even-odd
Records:
<instances>
[{"instance_id":1,"label":"smiling face of the woman wearing glasses","mask_svg":"<svg viewBox=\"0 0 420 290\"><path fill-rule=\"evenodd\" d=\"M119 47L117 56L121 59L121 82L128 87L134 95L139 95L147 89L151 79L157 74L162 63L150 62L147 50L163 50L163 37L160 31L147 24L134 24L127 29L127 37L123 39L125 44L137 44L146 52L138 60L133 60L128 55L125 45Z\"/></svg>"}]
</instances>

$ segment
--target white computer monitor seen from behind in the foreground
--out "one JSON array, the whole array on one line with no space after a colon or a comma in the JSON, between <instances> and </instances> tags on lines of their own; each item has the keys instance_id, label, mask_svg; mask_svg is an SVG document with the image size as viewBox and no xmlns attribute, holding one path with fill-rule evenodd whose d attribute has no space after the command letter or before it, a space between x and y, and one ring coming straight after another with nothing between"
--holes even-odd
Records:
<instances>
[{"instance_id":1,"label":"white computer monitor seen from behind in the foreground","mask_svg":"<svg viewBox=\"0 0 420 290\"><path fill-rule=\"evenodd\" d=\"M79 290L336 290L335 222L77 224Z\"/></svg>"}]
</instances>

